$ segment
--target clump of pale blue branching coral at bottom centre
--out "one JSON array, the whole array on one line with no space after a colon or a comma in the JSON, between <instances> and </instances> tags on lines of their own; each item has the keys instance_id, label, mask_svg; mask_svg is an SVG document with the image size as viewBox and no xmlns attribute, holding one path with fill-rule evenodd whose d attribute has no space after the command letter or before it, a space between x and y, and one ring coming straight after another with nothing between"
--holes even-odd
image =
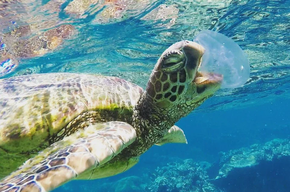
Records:
<instances>
[{"instance_id":1,"label":"clump of pale blue branching coral at bottom centre","mask_svg":"<svg viewBox=\"0 0 290 192\"><path fill-rule=\"evenodd\" d=\"M153 173L156 177L144 191L150 192L214 192L217 191L208 182L206 169L208 162L195 163L192 159L179 162L170 162L166 166L157 168Z\"/></svg>"}]
</instances>

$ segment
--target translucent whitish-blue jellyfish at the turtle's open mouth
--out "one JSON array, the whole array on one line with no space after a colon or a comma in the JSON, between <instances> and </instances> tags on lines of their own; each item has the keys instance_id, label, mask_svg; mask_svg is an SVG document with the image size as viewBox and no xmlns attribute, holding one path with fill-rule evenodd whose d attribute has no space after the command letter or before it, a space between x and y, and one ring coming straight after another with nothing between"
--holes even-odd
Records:
<instances>
[{"instance_id":1,"label":"translucent whitish-blue jellyfish at the turtle's open mouth","mask_svg":"<svg viewBox=\"0 0 290 192\"><path fill-rule=\"evenodd\" d=\"M202 30L194 41L205 48L200 72L223 75L222 88L237 88L247 82L250 63L234 40L215 31Z\"/></svg>"}]
</instances>

